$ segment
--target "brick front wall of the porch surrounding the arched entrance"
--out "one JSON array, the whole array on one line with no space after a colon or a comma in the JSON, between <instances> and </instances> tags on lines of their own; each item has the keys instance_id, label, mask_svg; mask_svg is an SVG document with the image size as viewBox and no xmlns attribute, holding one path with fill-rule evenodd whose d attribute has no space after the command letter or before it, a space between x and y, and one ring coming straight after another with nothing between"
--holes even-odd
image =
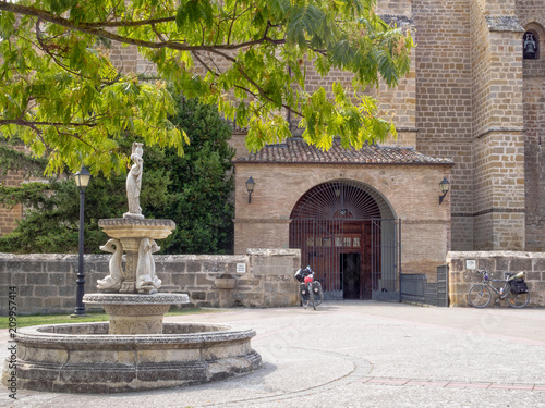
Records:
<instances>
[{"instance_id":1,"label":"brick front wall of the porch surrounding the arched entrance","mask_svg":"<svg viewBox=\"0 0 545 408\"><path fill-rule=\"evenodd\" d=\"M433 275L450 247L449 196L438 205L438 183L449 170L331 164L318 172L299 163L237 163L234 251L242 254L256 240L262 247L288 247L290 213L305 191L330 181L358 181L380 191L402 220L402 270ZM256 183L251 203L244 185L250 176Z\"/></svg>"}]
</instances>

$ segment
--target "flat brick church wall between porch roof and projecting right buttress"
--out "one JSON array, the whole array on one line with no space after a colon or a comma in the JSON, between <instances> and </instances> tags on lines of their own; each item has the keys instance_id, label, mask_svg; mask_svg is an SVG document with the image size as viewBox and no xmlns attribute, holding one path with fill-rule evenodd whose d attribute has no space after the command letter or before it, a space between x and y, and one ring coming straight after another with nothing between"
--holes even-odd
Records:
<instances>
[{"instance_id":1,"label":"flat brick church wall between porch roof and projecting right buttress","mask_svg":"<svg viewBox=\"0 0 545 408\"><path fill-rule=\"evenodd\" d=\"M453 159L452 248L471 248L470 5L463 0L414 0L412 12L416 26L416 149Z\"/></svg>"}]
</instances>

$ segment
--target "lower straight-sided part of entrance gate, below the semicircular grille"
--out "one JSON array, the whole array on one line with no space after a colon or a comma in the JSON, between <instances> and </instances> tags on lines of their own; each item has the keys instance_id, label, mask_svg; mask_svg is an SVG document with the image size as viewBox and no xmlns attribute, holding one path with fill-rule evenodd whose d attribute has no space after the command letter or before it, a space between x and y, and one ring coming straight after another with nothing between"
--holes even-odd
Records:
<instances>
[{"instance_id":1,"label":"lower straight-sided part of entrance gate, below the semicircular grille","mask_svg":"<svg viewBox=\"0 0 545 408\"><path fill-rule=\"evenodd\" d=\"M397 220L299 219L290 224L290 247L301 249L325 299L399 301Z\"/></svg>"}]
</instances>

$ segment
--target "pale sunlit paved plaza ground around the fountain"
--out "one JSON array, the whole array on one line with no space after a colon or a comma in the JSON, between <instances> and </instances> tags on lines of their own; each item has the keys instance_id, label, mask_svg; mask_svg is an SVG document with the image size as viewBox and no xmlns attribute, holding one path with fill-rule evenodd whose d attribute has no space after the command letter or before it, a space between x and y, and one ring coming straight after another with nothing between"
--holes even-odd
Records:
<instances>
[{"instance_id":1,"label":"pale sunlit paved plaza ground around the fountain","mask_svg":"<svg viewBox=\"0 0 545 408\"><path fill-rule=\"evenodd\" d=\"M167 321L252 327L258 371L221 382L87 395L0 391L1 407L545 407L545 309L374 301L230 309ZM0 357L8 356L0 332Z\"/></svg>"}]
</instances>

